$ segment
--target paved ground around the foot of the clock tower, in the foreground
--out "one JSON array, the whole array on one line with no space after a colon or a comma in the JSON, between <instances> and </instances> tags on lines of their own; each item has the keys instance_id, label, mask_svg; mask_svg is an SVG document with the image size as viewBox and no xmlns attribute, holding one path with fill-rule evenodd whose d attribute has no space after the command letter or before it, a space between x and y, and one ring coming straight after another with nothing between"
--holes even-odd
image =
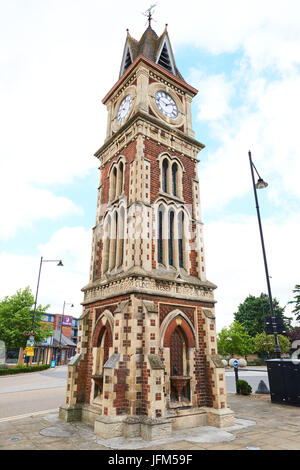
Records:
<instances>
[{"instance_id":1,"label":"paved ground around the foot of the clock tower, in the foreground","mask_svg":"<svg viewBox=\"0 0 300 470\"><path fill-rule=\"evenodd\" d=\"M177 432L160 442L127 442L127 449L148 450L300 450L300 407L275 405L269 395L228 394L236 426L197 428ZM125 443L126 446L126 443ZM57 413L0 420L0 450L112 450L124 449L124 440L103 440L80 422L64 423Z\"/></svg>"}]
</instances>

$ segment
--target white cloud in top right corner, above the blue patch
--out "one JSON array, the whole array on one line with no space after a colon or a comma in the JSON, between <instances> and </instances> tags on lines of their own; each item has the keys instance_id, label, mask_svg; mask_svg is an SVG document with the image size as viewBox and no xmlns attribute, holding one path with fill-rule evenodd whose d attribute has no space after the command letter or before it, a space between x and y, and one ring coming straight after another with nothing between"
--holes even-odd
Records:
<instances>
[{"instance_id":1,"label":"white cloud in top right corner, above the blue patch","mask_svg":"<svg viewBox=\"0 0 300 470\"><path fill-rule=\"evenodd\" d=\"M179 14L180 12L180 14ZM192 12L192 14L191 14ZM164 2L175 44L193 44L212 54L242 51L257 70L291 69L300 61L298 0Z\"/></svg>"}]
</instances>

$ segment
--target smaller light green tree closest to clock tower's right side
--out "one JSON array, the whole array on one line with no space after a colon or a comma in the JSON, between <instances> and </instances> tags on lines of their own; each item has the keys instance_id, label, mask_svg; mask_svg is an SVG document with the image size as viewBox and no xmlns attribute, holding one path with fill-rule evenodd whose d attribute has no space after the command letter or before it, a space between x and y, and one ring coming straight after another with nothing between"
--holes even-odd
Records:
<instances>
[{"instance_id":1,"label":"smaller light green tree closest to clock tower's right side","mask_svg":"<svg viewBox=\"0 0 300 470\"><path fill-rule=\"evenodd\" d=\"M233 322L218 334L218 352L223 356L237 355L247 358L253 352L253 339L239 322Z\"/></svg>"}]
</instances>

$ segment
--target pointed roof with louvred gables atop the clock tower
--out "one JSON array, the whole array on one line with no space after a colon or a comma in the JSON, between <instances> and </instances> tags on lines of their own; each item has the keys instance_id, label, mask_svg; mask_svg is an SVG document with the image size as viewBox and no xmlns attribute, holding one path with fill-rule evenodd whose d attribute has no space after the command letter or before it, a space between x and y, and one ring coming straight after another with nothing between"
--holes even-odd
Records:
<instances>
[{"instance_id":1,"label":"pointed roof with louvred gables atop the clock tower","mask_svg":"<svg viewBox=\"0 0 300 470\"><path fill-rule=\"evenodd\" d=\"M154 63L168 70L168 72L184 80L176 67L171 42L167 32L167 25L162 35L158 36L149 24L139 41L134 39L127 30L119 78L139 55L152 60Z\"/></svg>"}]
</instances>

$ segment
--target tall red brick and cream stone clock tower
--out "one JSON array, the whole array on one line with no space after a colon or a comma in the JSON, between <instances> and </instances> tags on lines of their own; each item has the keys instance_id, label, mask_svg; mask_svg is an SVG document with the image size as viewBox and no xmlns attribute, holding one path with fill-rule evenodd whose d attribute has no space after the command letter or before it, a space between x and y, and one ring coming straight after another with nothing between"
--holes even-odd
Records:
<instances>
[{"instance_id":1,"label":"tall red brick and cream stone clock tower","mask_svg":"<svg viewBox=\"0 0 300 470\"><path fill-rule=\"evenodd\" d=\"M89 283L69 364L65 420L102 437L228 426L207 280L191 102L167 28L127 31L118 81L106 94L106 138ZM201 180L201 173L200 173Z\"/></svg>"}]
</instances>

